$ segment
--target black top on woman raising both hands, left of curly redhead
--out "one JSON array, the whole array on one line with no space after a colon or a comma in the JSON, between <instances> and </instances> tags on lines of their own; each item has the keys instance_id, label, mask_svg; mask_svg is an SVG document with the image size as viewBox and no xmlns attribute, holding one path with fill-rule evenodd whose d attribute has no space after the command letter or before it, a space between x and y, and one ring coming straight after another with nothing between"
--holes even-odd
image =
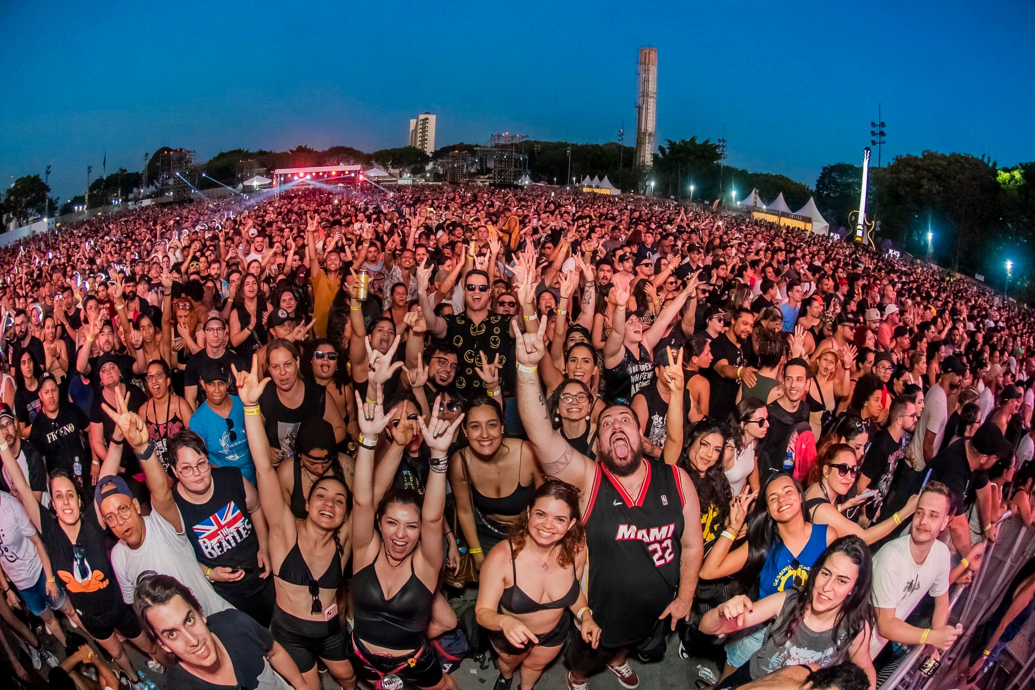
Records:
<instances>
[{"instance_id":1,"label":"black top on woman raising both hands, left of curly redhead","mask_svg":"<svg viewBox=\"0 0 1035 690\"><path fill-rule=\"evenodd\" d=\"M435 593L428 590L413 571L410 558L410 579L391 599L384 590L375 564L381 551L352 577L352 600L355 607L353 632L356 637L389 650L416 650L424 642L427 621L432 617Z\"/></svg>"}]
</instances>

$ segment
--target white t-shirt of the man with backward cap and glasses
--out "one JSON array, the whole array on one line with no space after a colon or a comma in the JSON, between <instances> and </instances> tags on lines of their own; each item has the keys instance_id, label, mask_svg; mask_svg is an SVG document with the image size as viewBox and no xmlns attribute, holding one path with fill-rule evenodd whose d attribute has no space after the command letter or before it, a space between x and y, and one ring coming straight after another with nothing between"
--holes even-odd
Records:
<instances>
[{"instance_id":1,"label":"white t-shirt of the man with backward cap and glasses","mask_svg":"<svg viewBox=\"0 0 1035 690\"><path fill-rule=\"evenodd\" d=\"M120 541L112 549L112 569L122 588L123 601L132 604L137 577L145 570L153 570L190 588L206 614L233 608L205 579L185 532L177 532L156 510L144 517L144 523L146 534L139 548L129 548Z\"/></svg>"}]
</instances>

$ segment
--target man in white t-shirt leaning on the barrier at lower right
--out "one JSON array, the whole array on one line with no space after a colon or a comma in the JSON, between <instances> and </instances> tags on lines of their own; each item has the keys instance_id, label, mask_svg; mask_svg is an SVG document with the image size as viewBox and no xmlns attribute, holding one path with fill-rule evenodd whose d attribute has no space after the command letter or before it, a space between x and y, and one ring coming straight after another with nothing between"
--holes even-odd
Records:
<instances>
[{"instance_id":1,"label":"man in white t-shirt leaning on the barrier at lower right","mask_svg":"<svg viewBox=\"0 0 1035 690\"><path fill-rule=\"evenodd\" d=\"M952 491L942 482L928 482L920 491L909 533L887 542L874 557L873 657L889 640L945 651L963 632L962 626L948 625L950 556L938 539L951 517ZM927 594L935 599L935 612L930 627L921 629L906 619Z\"/></svg>"}]
</instances>

